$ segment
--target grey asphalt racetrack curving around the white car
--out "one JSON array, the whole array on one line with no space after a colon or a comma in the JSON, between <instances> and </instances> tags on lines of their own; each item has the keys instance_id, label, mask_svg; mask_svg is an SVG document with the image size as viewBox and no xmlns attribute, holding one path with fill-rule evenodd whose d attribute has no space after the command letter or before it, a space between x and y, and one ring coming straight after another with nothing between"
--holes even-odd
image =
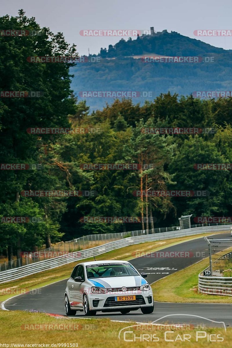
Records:
<instances>
[{"instance_id":1,"label":"grey asphalt racetrack curving around the white car","mask_svg":"<svg viewBox=\"0 0 232 348\"><path fill-rule=\"evenodd\" d=\"M210 235L209 235L210 236ZM231 238L230 232L223 232L221 234L212 235L212 238ZM130 260L130 263L136 267L141 273L148 274L147 281L151 284L156 280L172 274L178 270L184 269L195 262L200 261L208 256L208 245L203 238L198 238L183 242L171 247L162 249L165 252L190 252L191 257L139 257ZM161 250L160 250L161 252ZM154 254L152 254L154 255ZM178 255L178 254L177 254ZM69 275L67 275L68 277ZM53 283L51 285L40 288L36 293L30 291L29 293L15 296L7 300L4 304L7 310L38 310L46 313L65 315L64 311L64 290L67 279ZM170 284L171 286L171 284ZM155 293L153 293L155 300ZM213 302L212 295L212 302ZM169 303L169 302L154 302L155 308L152 314L142 314L141 310L131 311L128 314L122 315L119 312L102 313L97 312L95 317L107 317L116 321L133 321L133 322L153 322L161 317L165 317L157 323L194 323L206 324L207 326L219 326L223 324L214 323L225 322L226 326L232 326L232 304L228 303ZM174 316L173 316L174 315ZM196 317L193 317L193 316ZM208 321L203 318L210 319ZM87 318L83 312L78 311L75 318Z\"/></svg>"}]
</instances>

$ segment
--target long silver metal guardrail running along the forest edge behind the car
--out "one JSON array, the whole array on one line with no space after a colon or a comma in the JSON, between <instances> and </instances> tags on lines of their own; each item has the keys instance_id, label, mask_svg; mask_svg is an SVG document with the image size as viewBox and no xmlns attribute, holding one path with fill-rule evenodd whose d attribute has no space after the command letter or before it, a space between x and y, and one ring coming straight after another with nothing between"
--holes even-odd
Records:
<instances>
[{"instance_id":1,"label":"long silver metal guardrail running along the forest edge behind the car","mask_svg":"<svg viewBox=\"0 0 232 348\"><path fill-rule=\"evenodd\" d=\"M206 227L191 228L186 230L178 230L174 232L164 232L159 234L150 234L150 235L147 234L145 236L138 236L138 237L128 237L128 238L116 240L115 242L103 244L101 246L96 246L94 248L76 251L67 255L62 255L57 258L39 261L39 262L25 265L22 267L10 269L7 271L2 271L0 272L0 283L6 283L6 282L9 282L10 280L23 278L31 274L56 268L58 266L62 266L67 263L93 257L94 255L95 256L101 255L106 252L116 250L125 246L133 245L133 244L151 242L151 241L162 240L162 239L178 238L183 236L191 236L194 234L202 234L205 232L228 231L228 230L231 230L231 228L232 228L232 225L223 225L223 226L214 226L214 227L206 226Z\"/></svg>"}]
</instances>

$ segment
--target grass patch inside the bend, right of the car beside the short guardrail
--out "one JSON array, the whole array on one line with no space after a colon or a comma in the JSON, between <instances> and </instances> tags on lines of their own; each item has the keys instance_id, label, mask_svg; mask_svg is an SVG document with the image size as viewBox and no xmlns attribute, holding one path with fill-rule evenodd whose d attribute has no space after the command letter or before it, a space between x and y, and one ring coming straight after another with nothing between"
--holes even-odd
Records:
<instances>
[{"instance_id":1,"label":"grass patch inside the bend, right of the car beside the short guardrail","mask_svg":"<svg viewBox=\"0 0 232 348\"><path fill-rule=\"evenodd\" d=\"M232 303L231 296L198 293L198 274L208 265L209 258L206 258L153 283L155 301Z\"/></svg>"}]
</instances>

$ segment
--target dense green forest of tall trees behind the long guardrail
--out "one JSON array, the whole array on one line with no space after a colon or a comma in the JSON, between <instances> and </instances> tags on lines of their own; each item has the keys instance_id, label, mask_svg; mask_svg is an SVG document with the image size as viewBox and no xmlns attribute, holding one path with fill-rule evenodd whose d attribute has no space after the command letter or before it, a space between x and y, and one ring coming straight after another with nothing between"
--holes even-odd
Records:
<instances>
[{"instance_id":1,"label":"dense green forest of tall trees behind the long guardrail","mask_svg":"<svg viewBox=\"0 0 232 348\"><path fill-rule=\"evenodd\" d=\"M23 11L17 17L0 17L0 26L41 30ZM114 100L102 110L90 111L88 100L78 99L70 87L74 63L26 60L29 56L76 54L75 46L69 46L62 33L42 30L43 35L37 37L0 37L1 90L43 92L38 98L0 99L0 162L28 164L26 170L4 170L1 165L0 253L8 252L10 258L21 250L59 240L152 227L150 222L83 223L83 216L153 216L154 227L166 227L176 226L178 217L186 214L231 215L231 172L194 167L196 163L232 163L231 97L200 100L191 94L168 92L143 104ZM135 74L133 69L130 73ZM190 84L187 78L183 83ZM28 129L35 127L84 131L31 134ZM154 127L213 128L214 132L171 135L143 131ZM83 168L83 164L107 163L134 163L139 169ZM27 197L25 190L91 190L95 194ZM207 190L209 195L142 198L133 195L135 190ZM37 221L6 223L6 216L37 217Z\"/></svg>"}]
</instances>

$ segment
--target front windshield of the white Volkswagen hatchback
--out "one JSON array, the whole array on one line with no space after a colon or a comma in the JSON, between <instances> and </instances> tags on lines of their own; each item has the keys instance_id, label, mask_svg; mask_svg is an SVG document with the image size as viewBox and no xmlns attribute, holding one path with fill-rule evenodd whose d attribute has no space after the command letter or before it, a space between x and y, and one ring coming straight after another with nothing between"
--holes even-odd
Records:
<instances>
[{"instance_id":1,"label":"front windshield of the white Volkswagen hatchback","mask_svg":"<svg viewBox=\"0 0 232 348\"><path fill-rule=\"evenodd\" d=\"M139 276L136 269L128 263L102 263L86 266L87 278Z\"/></svg>"}]
</instances>

